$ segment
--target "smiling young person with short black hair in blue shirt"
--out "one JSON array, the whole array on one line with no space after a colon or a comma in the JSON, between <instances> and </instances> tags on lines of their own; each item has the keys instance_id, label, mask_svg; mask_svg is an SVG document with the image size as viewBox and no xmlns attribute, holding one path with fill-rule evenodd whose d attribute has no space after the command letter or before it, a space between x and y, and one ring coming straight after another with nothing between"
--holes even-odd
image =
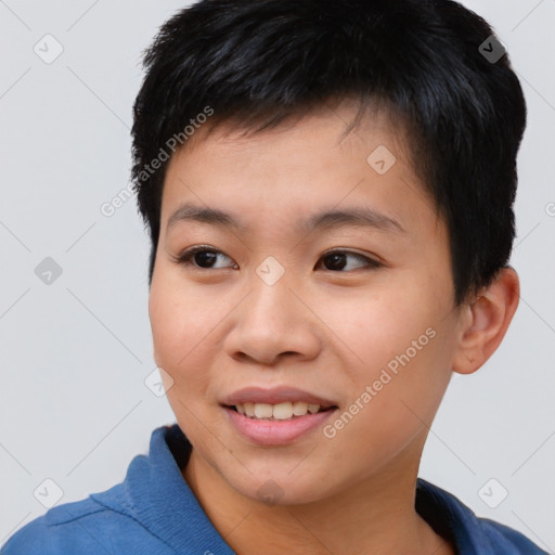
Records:
<instances>
[{"instance_id":1,"label":"smiling young person with short black hair in blue shirt","mask_svg":"<svg viewBox=\"0 0 555 555\"><path fill-rule=\"evenodd\" d=\"M515 313L526 107L449 0L203 0L145 56L133 178L177 424L5 555L545 553L417 478Z\"/></svg>"}]
</instances>

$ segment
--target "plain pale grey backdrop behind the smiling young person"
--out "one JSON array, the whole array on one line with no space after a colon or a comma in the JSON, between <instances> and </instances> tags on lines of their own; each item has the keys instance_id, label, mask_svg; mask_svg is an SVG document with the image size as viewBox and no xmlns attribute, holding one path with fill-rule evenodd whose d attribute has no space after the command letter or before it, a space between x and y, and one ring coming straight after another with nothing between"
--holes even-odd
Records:
<instances>
[{"instance_id":1,"label":"plain pale grey backdrop behind the smiling young person","mask_svg":"<svg viewBox=\"0 0 555 555\"><path fill-rule=\"evenodd\" d=\"M454 374L420 476L553 553L555 1L463 3L495 28L528 102L521 298L493 357ZM40 491L65 503L108 489L175 422L147 387L147 235L134 198L111 217L101 206L129 182L141 52L185 5L0 1L0 544L47 511Z\"/></svg>"}]
</instances>

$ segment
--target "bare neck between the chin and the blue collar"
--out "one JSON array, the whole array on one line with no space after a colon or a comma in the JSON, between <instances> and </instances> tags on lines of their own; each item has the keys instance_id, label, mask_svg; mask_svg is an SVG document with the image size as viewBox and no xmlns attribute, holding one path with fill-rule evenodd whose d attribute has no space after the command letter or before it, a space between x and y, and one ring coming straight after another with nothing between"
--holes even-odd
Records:
<instances>
[{"instance_id":1,"label":"bare neck between the chin and the blue collar","mask_svg":"<svg viewBox=\"0 0 555 555\"><path fill-rule=\"evenodd\" d=\"M414 508L417 467L387 472L306 504L268 505L242 495L193 450L182 470L196 499L238 555L454 555Z\"/></svg>"}]
</instances>

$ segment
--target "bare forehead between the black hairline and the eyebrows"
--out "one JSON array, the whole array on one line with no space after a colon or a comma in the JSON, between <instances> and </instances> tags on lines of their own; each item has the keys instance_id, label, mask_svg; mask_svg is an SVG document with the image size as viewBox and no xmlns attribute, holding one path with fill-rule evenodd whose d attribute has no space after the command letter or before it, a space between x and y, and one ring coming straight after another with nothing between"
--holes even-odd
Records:
<instances>
[{"instance_id":1,"label":"bare forehead between the black hairline and the eyebrows","mask_svg":"<svg viewBox=\"0 0 555 555\"><path fill-rule=\"evenodd\" d=\"M306 232L334 218L347 222L348 211L351 222L373 219L376 230L402 231L411 210L433 208L410 163L410 138L384 111L364 114L346 134L356 114L344 103L256 133L231 120L201 127L170 160L163 225L190 217L246 230L261 215L287 225L295 218Z\"/></svg>"}]
</instances>

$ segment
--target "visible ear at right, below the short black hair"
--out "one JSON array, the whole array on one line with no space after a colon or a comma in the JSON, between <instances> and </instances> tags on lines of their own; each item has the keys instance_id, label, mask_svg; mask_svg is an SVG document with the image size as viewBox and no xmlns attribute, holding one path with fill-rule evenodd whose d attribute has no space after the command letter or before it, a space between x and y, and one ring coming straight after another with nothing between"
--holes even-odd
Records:
<instances>
[{"instance_id":1,"label":"visible ear at right, below the short black hair","mask_svg":"<svg viewBox=\"0 0 555 555\"><path fill-rule=\"evenodd\" d=\"M491 285L462 310L453 372L472 374L493 354L505 336L519 299L518 274L506 266Z\"/></svg>"}]
</instances>

